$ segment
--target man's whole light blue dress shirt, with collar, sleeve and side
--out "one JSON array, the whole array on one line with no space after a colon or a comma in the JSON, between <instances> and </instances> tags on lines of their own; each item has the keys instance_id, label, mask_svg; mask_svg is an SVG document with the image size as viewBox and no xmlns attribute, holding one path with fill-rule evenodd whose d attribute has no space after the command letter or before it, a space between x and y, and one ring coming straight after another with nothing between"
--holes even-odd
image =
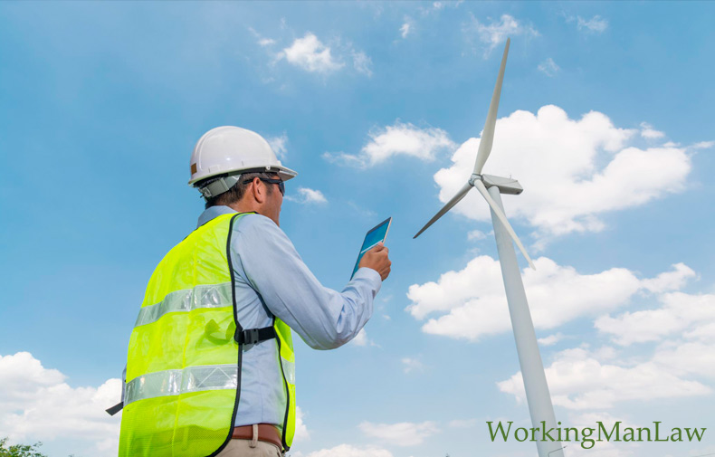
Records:
<instances>
[{"instance_id":1,"label":"man's whole light blue dress shirt, with collar, sleeve and side","mask_svg":"<svg viewBox=\"0 0 715 457\"><path fill-rule=\"evenodd\" d=\"M198 225L230 213L235 211L228 206L212 206L201 214ZM233 230L236 315L243 328L269 327L275 316L310 348L332 349L355 338L372 316L373 300L382 285L377 271L359 269L338 292L320 284L270 218L246 214ZM236 426L283 423L286 396L278 357L275 339L243 347ZM300 389L300 368L297 377Z\"/></svg>"}]
</instances>

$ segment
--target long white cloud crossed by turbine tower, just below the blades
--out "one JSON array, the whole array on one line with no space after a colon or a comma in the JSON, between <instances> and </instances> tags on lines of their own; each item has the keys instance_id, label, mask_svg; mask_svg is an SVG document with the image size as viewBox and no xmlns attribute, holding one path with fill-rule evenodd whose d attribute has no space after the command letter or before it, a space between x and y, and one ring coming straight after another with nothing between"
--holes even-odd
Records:
<instances>
[{"instance_id":1,"label":"long white cloud crossed by turbine tower, just below the blades","mask_svg":"<svg viewBox=\"0 0 715 457\"><path fill-rule=\"evenodd\" d=\"M663 280L670 278L667 274L639 280L634 272L624 268L581 274L547 257L534 262L536 271L525 269L522 277L537 329L557 328L573 319L623 307L636 292L648 291L653 284L659 284L663 290L682 285L680 280ZM682 264L673 266L676 276L685 274L679 265ZM474 258L461 271L447 271L437 282L411 285L407 298L412 303L406 310L416 319L442 314L424 323L425 333L475 341L511 329L501 267L498 260L489 256Z\"/></svg>"}]
</instances>

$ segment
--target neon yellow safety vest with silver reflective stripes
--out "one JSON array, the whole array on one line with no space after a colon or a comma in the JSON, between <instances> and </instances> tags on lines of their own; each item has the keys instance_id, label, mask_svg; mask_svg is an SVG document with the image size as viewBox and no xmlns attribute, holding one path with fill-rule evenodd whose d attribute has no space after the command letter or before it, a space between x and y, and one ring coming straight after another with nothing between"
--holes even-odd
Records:
<instances>
[{"instance_id":1,"label":"neon yellow safety vest with silver reflective stripes","mask_svg":"<svg viewBox=\"0 0 715 457\"><path fill-rule=\"evenodd\" d=\"M243 344L275 338L286 392L284 451L295 432L291 328L244 329L236 319L233 226L224 214L178 243L151 275L129 340L120 457L214 456L231 439Z\"/></svg>"}]
</instances>

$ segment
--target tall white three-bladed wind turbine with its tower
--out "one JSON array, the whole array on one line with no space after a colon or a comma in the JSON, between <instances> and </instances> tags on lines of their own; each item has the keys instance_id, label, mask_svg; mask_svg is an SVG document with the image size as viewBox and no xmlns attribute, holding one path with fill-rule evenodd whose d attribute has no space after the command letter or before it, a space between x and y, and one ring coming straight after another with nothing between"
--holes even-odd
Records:
<instances>
[{"instance_id":1,"label":"tall white three-bladed wind turbine with its tower","mask_svg":"<svg viewBox=\"0 0 715 457\"><path fill-rule=\"evenodd\" d=\"M509 314L511 318L511 327L514 330L514 339L517 344L517 354L519 355L519 364L521 367L521 376L524 379L524 387L527 394L527 403L529 404L529 414L531 415L531 424L533 427L543 427L546 430L556 428L556 416L554 415L554 406L551 404L551 396L548 393L548 384L544 373L544 365L541 362L539 354L539 346L537 344L536 332L534 324L531 321L531 313L529 312L529 303L524 292L524 284L521 281L521 273L519 263L517 263L517 254L514 250L511 241L519 246L521 253L529 262L529 266L536 270L534 263L531 262L529 254L524 245L521 244L519 237L511 228L506 215L504 215L504 207L501 205L501 194L519 195L524 190L516 179L511 179L501 176L482 175L481 169L484 167L487 158L491 152L491 144L494 139L494 127L497 123L497 109L499 108L499 98L501 95L501 81L504 80L504 67L507 63L507 54L509 53L510 39L507 39L507 45L504 48L504 56L501 58L501 67L497 83L494 86L494 93L491 96L491 104L487 120L484 122L484 130L481 133L481 141L479 143L479 151L477 159L474 162L472 176L470 176L467 184L465 184L446 205L435 214L430 222L422 227L414 238L423 233L430 225L434 224L446 212L457 205L467 193L476 188L484 197L491 207L491 223L494 225L494 237L497 241L497 251L499 252L499 262L501 264L501 276L504 279L504 289L507 294L507 302L509 303ZM563 457L561 451L561 443L558 441L537 441L537 449L539 457Z\"/></svg>"}]
</instances>

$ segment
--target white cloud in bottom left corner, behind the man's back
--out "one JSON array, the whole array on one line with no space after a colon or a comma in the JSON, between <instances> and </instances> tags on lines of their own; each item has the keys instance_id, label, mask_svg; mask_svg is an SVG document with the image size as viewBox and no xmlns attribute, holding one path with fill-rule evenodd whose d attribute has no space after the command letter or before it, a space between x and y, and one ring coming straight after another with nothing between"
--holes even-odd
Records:
<instances>
[{"instance_id":1,"label":"white cloud in bottom left corner, behind the man's back","mask_svg":"<svg viewBox=\"0 0 715 457\"><path fill-rule=\"evenodd\" d=\"M71 438L92 455L117 455L121 414L104 410L119 402L121 380L71 387L65 378L29 352L0 356L0 436L13 442Z\"/></svg>"}]
</instances>

